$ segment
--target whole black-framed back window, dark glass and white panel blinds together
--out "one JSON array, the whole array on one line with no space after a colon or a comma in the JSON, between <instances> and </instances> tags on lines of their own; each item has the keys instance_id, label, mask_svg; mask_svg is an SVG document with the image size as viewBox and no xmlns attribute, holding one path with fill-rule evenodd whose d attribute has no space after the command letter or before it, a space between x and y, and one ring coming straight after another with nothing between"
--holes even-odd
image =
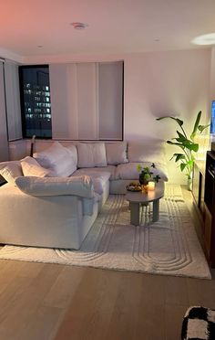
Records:
<instances>
[{"instance_id":1,"label":"whole black-framed back window, dark glass and white panel blinds together","mask_svg":"<svg viewBox=\"0 0 215 340\"><path fill-rule=\"evenodd\" d=\"M24 137L123 139L123 61L22 66L19 75Z\"/></svg>"}]
</instances>

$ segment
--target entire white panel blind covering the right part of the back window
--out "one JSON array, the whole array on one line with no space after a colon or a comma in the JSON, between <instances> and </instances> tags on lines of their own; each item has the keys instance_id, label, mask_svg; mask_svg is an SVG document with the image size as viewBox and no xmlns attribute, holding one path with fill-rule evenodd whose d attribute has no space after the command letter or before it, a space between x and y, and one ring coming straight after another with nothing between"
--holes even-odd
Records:
<instances>
[{"instance_id":1,"label":"entire white panel blind covering the right part of the back window","mask_svg":"<svg viewBox=\"0 0 215 340\"><path fill-rule=\"evenodd\" d=\"M122 62L49 66L54 139L122 138Z\"/></svg>"}]
</instances>

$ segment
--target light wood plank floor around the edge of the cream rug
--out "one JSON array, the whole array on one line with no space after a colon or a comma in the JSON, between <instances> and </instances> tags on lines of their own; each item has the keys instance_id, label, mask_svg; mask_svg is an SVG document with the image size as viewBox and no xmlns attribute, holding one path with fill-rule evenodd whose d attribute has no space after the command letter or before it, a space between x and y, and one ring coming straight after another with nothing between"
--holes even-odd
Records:
<instances>
[{"instance_id":1,"label":"light wood plank floor around the edge of the cream rug","mask_svg":"<svg viewBox=\"0 0 215 340\"><path fill-rule=\"evenodd\" d=\"M0 260L0 340L178 340L190 305L215 308L212 278Z\"/></svg>"}]
</instances>

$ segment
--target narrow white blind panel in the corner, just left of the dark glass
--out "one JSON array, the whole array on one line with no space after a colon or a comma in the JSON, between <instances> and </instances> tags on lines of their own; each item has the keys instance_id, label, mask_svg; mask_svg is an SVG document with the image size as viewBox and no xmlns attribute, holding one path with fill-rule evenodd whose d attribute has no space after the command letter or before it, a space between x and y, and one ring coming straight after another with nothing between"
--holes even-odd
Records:
<instances>
[{"instance_id":1,"label":"narrow white blind panel in the corner, just left of the dark glass","mask_svg":"<svg viewBox=\"0 0 215 340\"><path fill-rule=\"evenodd\" d=\"M8 126L8 139L22 138L18 65L5 61L5 99Z\"/></svg>"}]
</instances>

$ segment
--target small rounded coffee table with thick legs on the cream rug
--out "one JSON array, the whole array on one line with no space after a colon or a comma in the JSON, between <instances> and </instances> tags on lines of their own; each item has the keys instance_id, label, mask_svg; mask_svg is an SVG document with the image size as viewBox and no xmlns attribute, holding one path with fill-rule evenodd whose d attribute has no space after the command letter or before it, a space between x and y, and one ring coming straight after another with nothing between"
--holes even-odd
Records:
<instances>
[{"instance_id":1,"label":"small rounded coffee table with thick legs on the cream rug","mask_svg":"<svg viewBox=\"0 0 215 340\"><path fill-rule=\"evenodd\" d=\"M152 222L159 219L159 199L164 196L164 182L159 181L156 184L155 190L145 192L131 192L128 191L126 199L130 206L130 224L139 226L139 207L141 205L148 205L149 202L153 203Z\"/></svg>"}]
</instances>

